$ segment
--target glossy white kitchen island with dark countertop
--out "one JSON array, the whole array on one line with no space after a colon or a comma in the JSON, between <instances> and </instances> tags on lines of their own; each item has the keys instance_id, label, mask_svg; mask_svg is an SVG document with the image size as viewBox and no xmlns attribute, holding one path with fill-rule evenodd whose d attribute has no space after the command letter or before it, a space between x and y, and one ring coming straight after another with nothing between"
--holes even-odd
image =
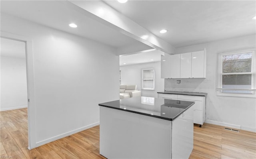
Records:
<instances>
[{"instance_id":1,"label":"glossy white kitchen island with dark countertop","mask_svg":"<svg viewBox=\"0 0 256 159\"><path fill-rule=\"evenodd\" d=\"M108 159L186 159L194 102L133 97L99 104L100 154Z\"/></svg>"}]
</instances>

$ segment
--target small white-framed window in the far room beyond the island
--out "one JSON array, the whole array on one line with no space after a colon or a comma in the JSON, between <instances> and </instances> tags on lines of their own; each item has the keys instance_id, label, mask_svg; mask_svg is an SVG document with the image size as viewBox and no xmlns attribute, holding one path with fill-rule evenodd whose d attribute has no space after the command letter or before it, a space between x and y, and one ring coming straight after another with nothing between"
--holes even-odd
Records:
<instances>
[{"instance_id":1,"label":"small white-framed window in the far room beyond the island","mask_svg":"<svg viewBox=\"0 0 256 159\"><path fill-rule=\"evenodd\" d=\"M141 70L142 89L154 90L155 89L155 71L154 69Z\"/></svg>"}]
</instances>

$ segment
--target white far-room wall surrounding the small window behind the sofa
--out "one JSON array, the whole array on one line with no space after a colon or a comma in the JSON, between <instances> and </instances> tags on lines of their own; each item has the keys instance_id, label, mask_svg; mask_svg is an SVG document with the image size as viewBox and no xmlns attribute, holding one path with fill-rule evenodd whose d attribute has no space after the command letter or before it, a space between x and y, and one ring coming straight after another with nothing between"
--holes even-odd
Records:
<instances>
[{"instance_id":1,"label":"white far-room wall surrounding the small window behind the sofa","mask_svg":"<svg viewBox=\"0 0 256 159\"><path fill-rule=\"evenodd\" d=\"M141 69L155 69L155 90L141 90ZM157 98L157 92L164 90L164 79L161 79L161 63L145 63L137 65L120 66L121 84L137 84L142 96Z\"/></svg>"}]
</instances>

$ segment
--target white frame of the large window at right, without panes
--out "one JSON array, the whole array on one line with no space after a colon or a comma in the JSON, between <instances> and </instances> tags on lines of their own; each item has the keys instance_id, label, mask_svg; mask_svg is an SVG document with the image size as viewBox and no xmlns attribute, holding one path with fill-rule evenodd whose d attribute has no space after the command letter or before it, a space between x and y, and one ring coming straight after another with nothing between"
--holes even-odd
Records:
<instances>
[{"instance_id":1,"label":"white frame of the large window at right, without panes","mask_svg":"<svg viewBox=\"0 0 256 159\"><path fill-rule=\"evenodd\" d=\"M222 73L222 57L225 55L237 55L243 53L252 52L252 63L251 63L251 72L248 73ZM246 98L256 98L256 48L249 49L240 49L236 51L225 51L218 53L218 64L217 64L217 80L216 80L216 95L217 96L231 96L231 97L246 97ZM232 92L222 92L222 90L228 90L222 88L222 75L252 75L252 89L242 89L242 90L250 90L252 93L232 93ZM231 89L232 90L232 89Z\"/></svg>"}]
</instances>

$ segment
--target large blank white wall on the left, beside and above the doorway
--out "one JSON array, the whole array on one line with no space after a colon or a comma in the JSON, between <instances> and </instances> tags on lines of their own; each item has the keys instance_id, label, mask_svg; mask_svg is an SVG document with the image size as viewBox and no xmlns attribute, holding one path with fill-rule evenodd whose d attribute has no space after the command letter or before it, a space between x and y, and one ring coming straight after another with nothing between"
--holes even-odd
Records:
<instances>
[{"instance_id":1,"label":"large blank white wall on the left, beside and above the doorway","mask_svg":"<svg viewBox=\"0 0 256 159\"><path fill-rule=\"evenodd\" d=\"M32 39L36 146L99 124L98 104L119 99L115 48L2 13L1 31Z\"/></svg>"}]
</instances>

